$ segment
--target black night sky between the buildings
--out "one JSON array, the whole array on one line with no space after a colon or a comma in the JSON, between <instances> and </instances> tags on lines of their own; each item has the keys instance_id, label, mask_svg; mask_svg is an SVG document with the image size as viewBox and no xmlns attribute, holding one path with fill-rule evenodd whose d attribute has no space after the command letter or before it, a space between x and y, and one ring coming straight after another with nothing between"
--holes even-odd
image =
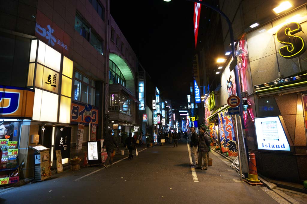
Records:
<instances>
[{"instance_id":1,"label":"black night sky between the buildings","mask_svg":"<svg viewBox=\"0 0 307 204\"><path fill-rule=\"evenodd\" d=\"M194 3L111 0L115 19L164 98L186 102L195 54Z\"/></svg>"}]
</instances>

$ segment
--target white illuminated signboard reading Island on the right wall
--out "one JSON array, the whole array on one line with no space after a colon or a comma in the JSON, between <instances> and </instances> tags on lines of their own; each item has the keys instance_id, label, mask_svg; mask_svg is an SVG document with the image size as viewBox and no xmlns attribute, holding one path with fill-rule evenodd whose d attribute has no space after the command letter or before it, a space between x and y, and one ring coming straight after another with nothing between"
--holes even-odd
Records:
<instances>
[{"instance_id":1,"label":"white illuminated signboard reading Island on the right wall","mask_svg":"<svg viewBox=\"0 0 307 204\"><path fill-rule=\"evenodd\" d=\"M285 128L281 123L282 117L280 117L255 118L256 137L259 150L290 151Z\"/></svg>"}]
</instances>

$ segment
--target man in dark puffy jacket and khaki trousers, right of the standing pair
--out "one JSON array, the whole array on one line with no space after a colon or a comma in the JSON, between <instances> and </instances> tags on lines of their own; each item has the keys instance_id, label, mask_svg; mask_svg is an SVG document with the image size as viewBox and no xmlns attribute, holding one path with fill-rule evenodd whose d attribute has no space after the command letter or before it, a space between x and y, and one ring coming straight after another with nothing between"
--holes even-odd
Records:
<instances>
[{"instance_id":1,"label":"man in dark puffy jacket and khaki trousers, right of the standing pair","mask_svg":"<svg viewBox=\"0 0 307 204\"><path fill-rule=\"evenodd\" d=\"M200 136L198 137L198 164L196 169L207 170L208 169L208 158L207 153L210 147L210 137L208 136L208 132L206 132L205 127L199 128ZM204 167L202 168L202 161L204 161Z\"/></svg>"}]
</instances>

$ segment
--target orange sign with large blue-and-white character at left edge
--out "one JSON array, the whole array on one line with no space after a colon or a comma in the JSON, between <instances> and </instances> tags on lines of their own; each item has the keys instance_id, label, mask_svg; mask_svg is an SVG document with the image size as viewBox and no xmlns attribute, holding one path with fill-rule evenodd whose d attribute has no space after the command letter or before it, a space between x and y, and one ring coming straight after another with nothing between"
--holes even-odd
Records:
<instances>
[{"instance_id":1,"label":"orange sign with large blue-and-white character at left edge","mask_svg":"<svg viewBox=\"0 0 307 204\"><path fill-rule=\"evenodd\" d=\"M0 86L0 117L32 119L33 102L32 89Z\"/></svg>"}]
</instances>

